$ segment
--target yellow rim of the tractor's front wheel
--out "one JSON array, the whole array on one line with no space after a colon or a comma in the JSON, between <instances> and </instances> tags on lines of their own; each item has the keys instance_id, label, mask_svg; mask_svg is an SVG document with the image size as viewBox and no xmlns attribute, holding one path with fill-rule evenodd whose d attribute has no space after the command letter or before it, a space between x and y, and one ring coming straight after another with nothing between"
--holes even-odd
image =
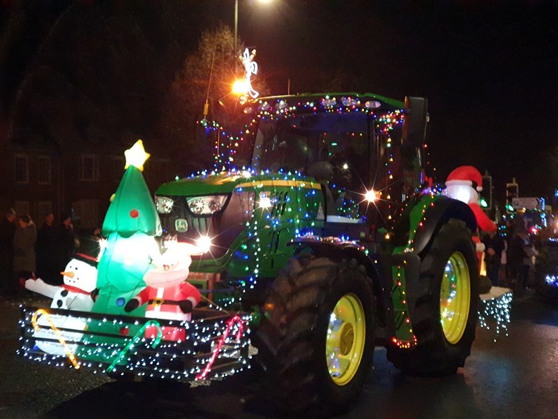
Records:
<instances>
[{"instance_id":1,"label":"yellow rim of the tractor's front wheel","mask_svg":"<svg viewBox=\"0 0 558 419\"><path fill-rule=\"evenodd\" d=\"M362 302L356 295L343 295L329 316L326 361L329 376L337 385L349 383L361 365L366 323Z\"/></svg>"}]
</instances>

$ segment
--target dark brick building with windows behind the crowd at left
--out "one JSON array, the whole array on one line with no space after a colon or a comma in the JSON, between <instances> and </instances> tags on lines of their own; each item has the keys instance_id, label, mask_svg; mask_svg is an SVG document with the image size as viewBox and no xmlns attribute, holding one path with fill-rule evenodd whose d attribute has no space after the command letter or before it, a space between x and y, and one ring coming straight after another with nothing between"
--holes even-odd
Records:
<instances>
[{"instance_id":1,"label":"dark brick building with windows behind the crowd at left","mask_svg":"<svg viewBox=\"0 0 558 419\"><path fill-rule=\"evenodd\" d=\"M29 214L41 226L47 212L56 223L61 212L72 212L76 228L100 227L124 172L124 151L137 138L84 141L46 140L44 136L10 135L0 120L0 208ZM89 137L91 138L91 137ZM169 159L158 157L145 141L150 159L144 168L149 189L174 179Z\"/></svg>"}]
</instances>

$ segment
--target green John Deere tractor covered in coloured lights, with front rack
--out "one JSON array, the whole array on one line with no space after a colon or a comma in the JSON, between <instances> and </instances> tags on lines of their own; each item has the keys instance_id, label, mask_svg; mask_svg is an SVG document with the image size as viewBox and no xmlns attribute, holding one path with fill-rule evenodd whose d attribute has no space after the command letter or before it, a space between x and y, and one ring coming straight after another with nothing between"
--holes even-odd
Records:
<instances>
[{"instance_id":1,"label":"green John Deere tractor covered in coloured lights, with front rack","mask_svg":"<svg viewBox=\"0 0 558 419\"><path fill-rule=\"evenodd\" d=\"M475 335L476 221L425 177L425 99L276 96L245 103L240 115L239 126L204 126L219 170L156 190L160 237L204 250L190 265L202 293L191 320L126 312L140 277L101 287L110 313L96 310L99 300L91 313L23 308L22 353L192 382L234 374L256 348L278 406L318 416L355 402L378 344L409 374L455 373ZM126 244L131 233L112 235ZM111 263L130 253L124 271L126 260L149 256L116 244ZM50 338L36 332L45 313L58 330ZM70 323L60 319L70 315L80 330L64 335ZM161 327L185 333L169 341L147 332ZM40 339L54 349L45 353Z\"/></svg>"}]
</instances>

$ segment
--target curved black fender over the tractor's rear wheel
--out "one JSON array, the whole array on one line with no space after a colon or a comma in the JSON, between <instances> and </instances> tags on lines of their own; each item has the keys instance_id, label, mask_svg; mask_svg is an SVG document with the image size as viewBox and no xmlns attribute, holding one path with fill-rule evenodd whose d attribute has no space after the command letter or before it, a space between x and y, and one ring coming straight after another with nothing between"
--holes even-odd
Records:
<instances>
[{"instance_id":1,"label":"curved black fender over the tractor's rear wheel","mask_svg":"<svg viewBox=\"0 0 558 419\"><path fill-rule=\"evenodd\" d=\"M432 242L438 230L450 219L465 221L467 228L476 231L476 219L469 205L460 200L442 196L425 212L423 225L418 228L414 237L414 253L422 253Z\"/></svg>"}]
</instances>

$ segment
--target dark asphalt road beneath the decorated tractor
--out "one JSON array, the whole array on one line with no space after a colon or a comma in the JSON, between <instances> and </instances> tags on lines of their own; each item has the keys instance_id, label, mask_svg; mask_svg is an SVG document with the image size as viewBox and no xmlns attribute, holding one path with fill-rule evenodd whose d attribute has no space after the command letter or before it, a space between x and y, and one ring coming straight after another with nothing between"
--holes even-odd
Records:
<instances>
[{"instance_id":1,"label":"dark asphalt road beneath the decorated tractor","mask_svg":"<svg viewBox=\"0 0 558 419\"><path fill-rule=\"evenodd\" d=\"M0 300L0 418L276 417L257 369L190 388L133 385L24 360L15 354L21 302ZM508 337L494 338L478 328L465 368L445 378L404 376L377 348L359 403L343 417L557 418L558 307L533 295L516 298Z\"/></svg>"}]
</instances>

